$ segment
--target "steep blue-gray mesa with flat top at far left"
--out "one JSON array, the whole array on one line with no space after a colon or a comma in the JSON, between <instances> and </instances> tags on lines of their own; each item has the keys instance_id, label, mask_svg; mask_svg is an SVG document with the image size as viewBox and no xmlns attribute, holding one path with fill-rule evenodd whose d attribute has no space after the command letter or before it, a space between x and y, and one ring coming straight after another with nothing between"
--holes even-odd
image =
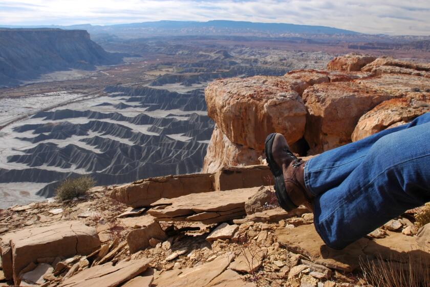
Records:
<instances>
[{"instance_id":1,"label":"steep blue-gray mesa with flat top at far left","mask_svg":"<svg viewBox=\"0 0 430 287\"><path fill-rule=\"evenodd\" d=\"M0 87L53 71L121 62L121 54L104 51L84 30L0 28Z\"/></svg>"}]
</instances>

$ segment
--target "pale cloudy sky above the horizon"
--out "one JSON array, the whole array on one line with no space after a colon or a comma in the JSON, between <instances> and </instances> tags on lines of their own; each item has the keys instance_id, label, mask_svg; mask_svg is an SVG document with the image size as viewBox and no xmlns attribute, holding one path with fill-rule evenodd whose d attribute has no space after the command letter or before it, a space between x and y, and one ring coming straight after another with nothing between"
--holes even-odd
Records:
<instances>
[{"instance_id":1,"label":"pale cloudy sky above the horizon","mask_svg":"<svg viewBox=\"0 0 430 287\"><path fill-rule=\"evenodd\" d=\"M108 25L213 19L430 35L430 0L0 0L0 25Z\"/></svg>"}]
</instances>

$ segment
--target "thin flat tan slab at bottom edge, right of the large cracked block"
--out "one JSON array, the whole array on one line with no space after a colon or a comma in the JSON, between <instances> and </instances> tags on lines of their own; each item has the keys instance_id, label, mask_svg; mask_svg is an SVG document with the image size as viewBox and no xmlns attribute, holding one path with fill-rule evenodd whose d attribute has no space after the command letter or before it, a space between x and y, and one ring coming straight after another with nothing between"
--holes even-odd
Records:
<instances>
[{"instance_id":1,"label":"thin flat tan slab at bottom edge, right of the large cracked block","mask_svg":"<svg viewBox=\"0 0 430 287\"><path fill-rule=\"evenodd\" d=\"M66 279L60 287L115 287L144 272L151 259L96 265Z\"/></svg>"}]
</instances>

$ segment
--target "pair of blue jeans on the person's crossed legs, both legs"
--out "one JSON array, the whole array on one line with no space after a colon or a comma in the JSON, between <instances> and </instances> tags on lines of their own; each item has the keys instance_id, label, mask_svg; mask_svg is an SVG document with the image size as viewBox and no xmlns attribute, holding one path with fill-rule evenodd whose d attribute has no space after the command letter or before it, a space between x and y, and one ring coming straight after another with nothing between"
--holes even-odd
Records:
<instances>
[{"instance_id":1,"label":"pair of blue jeans on the person's crossed legs, both legs","mask_svg":"<svg viewBox=\"0 0 430 287\"><path fill-rule=\"evenodd\" d=\"M315 229L334 249L430 201L430 113L310 159L305 184Z\"/></svg>"}]
</instances>

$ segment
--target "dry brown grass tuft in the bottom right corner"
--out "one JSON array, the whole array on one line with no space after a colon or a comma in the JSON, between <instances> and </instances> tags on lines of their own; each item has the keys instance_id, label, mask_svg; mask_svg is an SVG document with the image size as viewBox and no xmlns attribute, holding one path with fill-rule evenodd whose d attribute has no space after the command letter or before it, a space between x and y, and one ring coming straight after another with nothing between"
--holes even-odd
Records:
<instances>
[{"instance_id":1,"label":"dry brown grass tuft in the bottom right corner","mask_svg":"<svg viewBox=\"0 0 430 287\"><path fill-rule=\"evenodd\" d=\"M412 252L411 252L412 253ZM423 251L407 256L392 256L375 260L360 258L364 280L374 287L428 287L430 286L430 259ZM405 258L406 257L406 258ZM406 259L406 260L405 260ZM404 263L403 263L404 262Z\"/></svg>"}]
</instances>

